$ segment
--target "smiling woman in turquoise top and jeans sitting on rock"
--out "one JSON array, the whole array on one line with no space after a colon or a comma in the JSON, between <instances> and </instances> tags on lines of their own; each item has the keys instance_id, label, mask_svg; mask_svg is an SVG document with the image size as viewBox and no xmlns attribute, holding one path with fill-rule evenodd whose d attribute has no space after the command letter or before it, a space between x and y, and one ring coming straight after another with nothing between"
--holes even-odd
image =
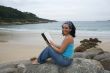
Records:
<instances>
[{"instance_id":1,"label":"smiling woman in turquoise top and jeans sitting on rock","mask_svg":"<svg viewBox=\"0 0 110 73\"><path fill-rule=\"evenodd\" d=\"M37 62L43 64L51 58L55 64L60 66L68 66L72 63L74 55L74 38L75 26L71 21L66 21L62 25L62 35L65 36L62 45L58 46L53 41L50 41L51 47L46 47L37 59ZM35 58L31 59L33 64L36 64Z\"/></svg>"}]
</instances>

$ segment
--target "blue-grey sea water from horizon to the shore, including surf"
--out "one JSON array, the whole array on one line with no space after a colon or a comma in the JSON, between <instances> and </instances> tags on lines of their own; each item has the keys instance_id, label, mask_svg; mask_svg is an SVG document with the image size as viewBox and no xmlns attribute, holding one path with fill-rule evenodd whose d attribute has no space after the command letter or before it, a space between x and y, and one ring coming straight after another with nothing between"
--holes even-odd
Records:
<instances>
[{"instance_id":1,"label":"blue-grey sea water from horizon to the shore, including surf","mask_svg":"<svg viewBox=\"0 0 110 73\"><path fill-rule=\"evenodd\" d=\"M32 32L55 32L61 33L64 22L50 22L23 25L0 25L0 30L7 31L32 31ZM110 21L73 21L77 35L86 36L110 36Z\"/></svg>"}]
</instances>

